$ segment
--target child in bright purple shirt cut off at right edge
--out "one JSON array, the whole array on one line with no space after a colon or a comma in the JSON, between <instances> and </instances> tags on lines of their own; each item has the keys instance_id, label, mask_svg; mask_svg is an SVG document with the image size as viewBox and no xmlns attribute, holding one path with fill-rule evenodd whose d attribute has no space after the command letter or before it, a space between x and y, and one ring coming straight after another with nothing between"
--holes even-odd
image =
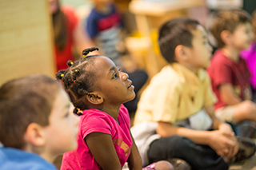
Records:
<instances>
[{"instance_id":1,"label":"child in bright purple shirt cut off at right edge","mask_svg":"<svg viewBox=\"0 0 256 170\"><path fill-rule=\"evenodd\" d=\"M242 50L241 57L246 60L248 69L250 70L250 85L253 94L253 101L256 101L256 10L252 14L252 26L254 32L254 40L250 43L250 49Z\"/></svg>"}]
</instances>

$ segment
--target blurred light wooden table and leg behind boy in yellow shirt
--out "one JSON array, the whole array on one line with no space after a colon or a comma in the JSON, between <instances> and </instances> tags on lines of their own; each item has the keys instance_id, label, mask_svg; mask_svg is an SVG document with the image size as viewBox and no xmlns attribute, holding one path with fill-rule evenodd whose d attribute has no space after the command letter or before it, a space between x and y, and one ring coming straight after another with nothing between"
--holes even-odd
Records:
<instances>
[{"instance_id":1,"label":"blurred light wooden table and leg behind boy in yellow shirt","mask_svg":"<svg viewBox=\"0 0 256 170\"><path fill-rule=\"evenodd\" d=\"M133 0L129 9L135 15L139 34L148 38L146 69L150 77L154 76L166 65L157 48L158 29L170 18L187 16L187 10L196 6L204 6L204 0ZM154 33L152 36L152 33Z\"/></svg>"}]
</instances>

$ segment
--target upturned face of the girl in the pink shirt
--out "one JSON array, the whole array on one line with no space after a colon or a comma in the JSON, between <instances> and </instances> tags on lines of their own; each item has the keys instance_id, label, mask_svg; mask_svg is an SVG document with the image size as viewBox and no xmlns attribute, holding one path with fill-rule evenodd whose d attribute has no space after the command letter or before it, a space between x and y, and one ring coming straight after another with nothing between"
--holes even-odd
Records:
<instances>
[{"instance_id":1,"label":"upturned face of the girl in the pink shirt","mask_svg":"<svg viewBox=\"0 0 256 170\"><path fill-rule=\"evenodd\" d=\"M94 61L98 92L103 102L121 105L135 97L134 85L127 73L118 71L114 62L108 57L97 57Z\"/></svg>"}]
</instances>

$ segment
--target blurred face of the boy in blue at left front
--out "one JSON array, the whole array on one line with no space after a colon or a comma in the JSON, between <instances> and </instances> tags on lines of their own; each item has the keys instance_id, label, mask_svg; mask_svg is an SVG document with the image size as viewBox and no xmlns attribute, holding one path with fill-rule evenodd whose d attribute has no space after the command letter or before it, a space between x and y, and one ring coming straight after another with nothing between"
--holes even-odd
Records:
<instances>
[{"instance_id":1,"label":"blurred face of the boy in blue at left front","mask_svg":"<svg viewBox=\"0 0 256 170\"><path fill-rule=\"evenodd\" d=\"M43 128L46 136L46 151L50 156L58 156L77 146L78 118L72 113L67 93L58 93L49 117L49 125Z\"/></svg>"}]
</instances>

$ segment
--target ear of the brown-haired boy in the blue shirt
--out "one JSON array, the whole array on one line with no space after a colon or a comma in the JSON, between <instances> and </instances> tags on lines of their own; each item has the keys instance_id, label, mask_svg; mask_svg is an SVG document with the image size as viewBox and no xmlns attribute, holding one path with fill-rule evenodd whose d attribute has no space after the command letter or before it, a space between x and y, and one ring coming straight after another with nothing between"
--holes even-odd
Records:
<instances>
[{"instance_id":1,"label":"ear of the brown-haired boy in the blue shirt","mask_svg":"<svg viewBox=\"0 0 256 170\"><path fill-rule=\"evenodd\" d=\"M38 125L37 123L31 123L28 125L24 134L24 140L27 144L43 146L46 141L42 132L42 126Z\"/></svg>"}]
</instances>

